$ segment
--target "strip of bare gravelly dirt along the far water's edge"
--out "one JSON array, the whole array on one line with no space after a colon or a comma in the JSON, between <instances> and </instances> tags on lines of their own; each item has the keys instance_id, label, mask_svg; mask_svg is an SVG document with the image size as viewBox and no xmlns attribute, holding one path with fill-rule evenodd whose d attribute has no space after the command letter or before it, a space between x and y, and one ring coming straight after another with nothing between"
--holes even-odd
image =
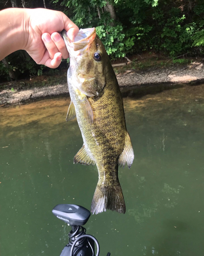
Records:
<instances>
[{"instance_id":1,"label":"strip of bare gravelly dirt along the far water's edge","mask_svg":"<svg viewBox=\"0 0 204 256\"><path fill-rule=\"evenodd\" d=\"M116 75L120 88L149 87L149 85L167 83L174 86L176 83L183 85L204 82L204 65L201 60L191 61L186 65L159 66L152 65L145 69L136 69L133 65L126 65L122 69L116 68ZM66 75L65 75L66 76ZM11 85L12 86L12 85ZM18 103L36 98L68 94L65 80L58 85L33 87L28 90L22 88L6 88L0 90L0 105Z\"/></svg>"}]
</instances>

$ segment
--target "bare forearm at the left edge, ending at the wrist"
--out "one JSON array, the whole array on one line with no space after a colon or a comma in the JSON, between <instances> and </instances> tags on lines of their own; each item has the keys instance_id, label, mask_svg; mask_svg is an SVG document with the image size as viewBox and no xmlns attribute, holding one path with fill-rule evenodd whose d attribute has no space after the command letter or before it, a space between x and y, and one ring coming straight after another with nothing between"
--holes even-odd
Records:
<instances>
[{"instance_id":1,"label":"bare forearm at the left edge, ending at the wrist","mask_svg":"<svg viewBox=\"0 0 204 256\"><path fill-rule=\"evenodd\" d=\"M0 60L24 49L28 34L27 9L10 8L0 11Z\"/></svg>"}]
</instances>

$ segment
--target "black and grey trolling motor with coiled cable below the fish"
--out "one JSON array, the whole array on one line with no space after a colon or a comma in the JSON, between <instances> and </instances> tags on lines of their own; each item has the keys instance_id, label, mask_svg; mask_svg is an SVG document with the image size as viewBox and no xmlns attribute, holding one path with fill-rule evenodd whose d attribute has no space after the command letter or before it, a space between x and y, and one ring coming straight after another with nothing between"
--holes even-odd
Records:
<instances>
[{"instance_id":1,"label":"black and grey trolling motor with coiled cable below the fish","mask_svg":"<svg viewBox=\"0 0 204 256\"><path fill-rule=\"evenodd\" d=\"M53 210L53 214L60 220L71 226L69 232L69 242L65 245L60 256L98 256L99 244L98 241L86 234L85 225L91 215L86 208L75 204L58 204ZM94 242L97 247L95 255ZM108 252L107 256L110 256Z\"/></svg>"}]
</instances>

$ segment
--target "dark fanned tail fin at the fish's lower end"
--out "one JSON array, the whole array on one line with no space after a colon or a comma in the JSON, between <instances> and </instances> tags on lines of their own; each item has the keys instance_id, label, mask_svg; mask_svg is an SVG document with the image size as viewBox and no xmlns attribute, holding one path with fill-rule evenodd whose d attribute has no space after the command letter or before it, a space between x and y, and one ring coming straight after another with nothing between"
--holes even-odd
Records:
<instances>
[{"instance_id":1,"label":"dark fanned tail fin at the fish's lower end","mask_svg":"<svg viewBox=\"0 0 204 256\"><path fill-rule=\"evenodd\" d=\"M115 187L97 184L91 203L92 214L99 214L106 210L125 213L125 202L120 184Z\"/></svg>"}]
</instances>

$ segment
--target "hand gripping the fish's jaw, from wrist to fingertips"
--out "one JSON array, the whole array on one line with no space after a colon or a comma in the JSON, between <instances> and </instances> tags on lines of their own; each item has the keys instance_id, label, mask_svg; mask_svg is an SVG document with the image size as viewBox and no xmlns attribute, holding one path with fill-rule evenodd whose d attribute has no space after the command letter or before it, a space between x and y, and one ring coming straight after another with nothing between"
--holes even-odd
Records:
<instances>
[{"instance_id":1,"label":"hand gripping the fish's jaw, from wrist to fingertips","mask_svg":"<svg viewBox=\"0 0 204 256\"><path fill-rule=\"evenodd\" d=\"M67 31L73 40L79 28L62 12L48 9L26 9L28 40L24 50L36 61L57 68L62 58L68 58L64 40L58 32Z\"/></svg>"}]
</instances>

